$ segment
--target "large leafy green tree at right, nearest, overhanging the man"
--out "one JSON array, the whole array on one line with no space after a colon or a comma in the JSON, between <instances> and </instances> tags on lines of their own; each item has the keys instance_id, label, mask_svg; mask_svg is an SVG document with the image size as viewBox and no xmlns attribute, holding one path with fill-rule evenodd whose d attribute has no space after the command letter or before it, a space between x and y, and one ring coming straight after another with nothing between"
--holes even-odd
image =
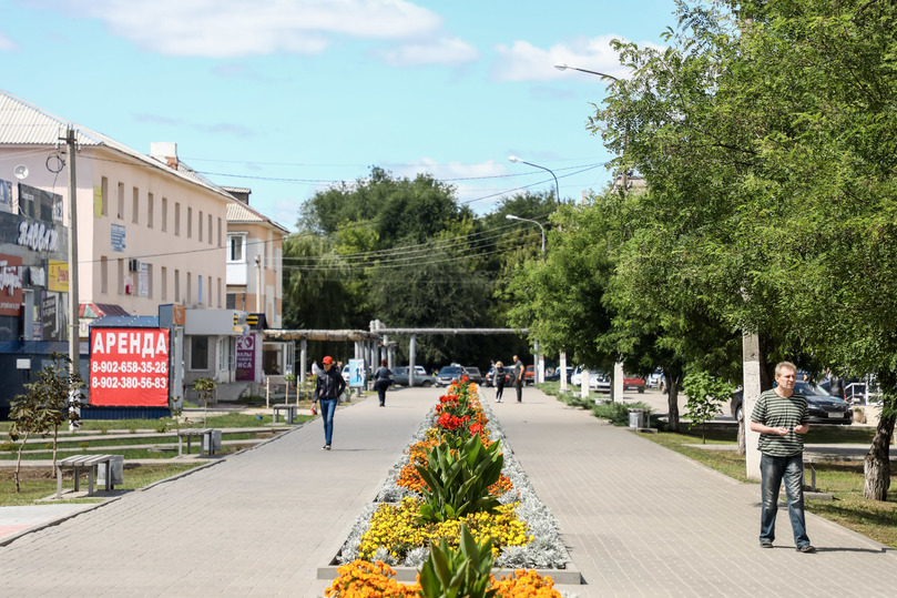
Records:
<instances>
[{"instance_id":1,"label":"large leafy green tree at right, nearest, overhanging the man","mask_svg":"<svg viewBox=\"0 0 897 598\"><path fill-rule=\"evenodd\" d=\"M645 178L658 252L730 331L772 355L876 373L866 496L884 499L897 407L897 7L680 4L664 50L592 121ZM849 284L859 278L859 284ZM667 312L671 316L672 311Z\"/></svg>"}]
</instances>

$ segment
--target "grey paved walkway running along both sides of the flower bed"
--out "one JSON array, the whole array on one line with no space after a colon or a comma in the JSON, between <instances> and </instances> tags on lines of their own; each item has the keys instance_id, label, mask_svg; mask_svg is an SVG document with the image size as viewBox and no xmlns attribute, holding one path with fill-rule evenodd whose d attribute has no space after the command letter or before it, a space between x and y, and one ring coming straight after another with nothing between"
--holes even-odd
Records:
<instances>
[{"instance_id":1,"label":"grey paved walkway running along both sides of the flower bed","mask_svg":"<svg viewBox=\"0 0 897 598\"><path fill-rule=\"evenodd\" d=\"M317 580L440 392L391 392L175 482L132 493L0 547L13 596L315 597ZM491 396L489 391L485 393ZM758 487L527 388L492 403L508 442L598 596L893 596L895 551L808 516L815 555L787 516L757 545ZM42 508L42 507L33 507ZM0 519L0 525L2 525Z\"/></svg>"}]
</instances>

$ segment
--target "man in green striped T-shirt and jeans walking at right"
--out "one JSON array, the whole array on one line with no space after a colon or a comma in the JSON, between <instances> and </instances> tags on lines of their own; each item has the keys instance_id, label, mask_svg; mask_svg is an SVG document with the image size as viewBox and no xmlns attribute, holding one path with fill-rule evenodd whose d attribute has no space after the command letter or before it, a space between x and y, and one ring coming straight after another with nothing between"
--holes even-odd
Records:
<instances>
[{"instance_id":1,"label":"man in green striped T-shirt and jeans walking at right","mask_svg":"<svg viewBox=\"0 0 897 598\"><path fill-rule=\"evenodd\" d=\"M760 545L772 548L778 490L785 482L788 518L794 544L801 553L816 549L809 544L804 518L804 434L809 432L809 412L804 395L794 392L797 367L789 362L775 366L776 387L760 395L751 413L751 429L760 433L762 478Z\"/></svg>"}]
</instances>

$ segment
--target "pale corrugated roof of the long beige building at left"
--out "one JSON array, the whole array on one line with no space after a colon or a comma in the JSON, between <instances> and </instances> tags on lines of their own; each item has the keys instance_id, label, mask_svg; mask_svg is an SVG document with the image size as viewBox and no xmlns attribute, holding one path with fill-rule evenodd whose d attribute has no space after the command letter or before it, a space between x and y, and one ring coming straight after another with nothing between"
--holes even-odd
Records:
<instances>
[{"instance_id":1,"label":"pale corrugated roof of the long beige building at left","mask_svg":"<svg viewBox=\"0 0 897 598\"><path fill-rule=\"evenodd\" d=\"M150 166L186 179L213 191L226 199L233 196L208 179L200 175L185 164L171 168L155 158L143 154L114 139L86 126L72 123L65 119L26 102L21 98L0 89L0 146L2 145L53 145L65 143L65 132L74 129L75 141L82 148L108 148L125 154Z\"/></svg>"}]
</instances>

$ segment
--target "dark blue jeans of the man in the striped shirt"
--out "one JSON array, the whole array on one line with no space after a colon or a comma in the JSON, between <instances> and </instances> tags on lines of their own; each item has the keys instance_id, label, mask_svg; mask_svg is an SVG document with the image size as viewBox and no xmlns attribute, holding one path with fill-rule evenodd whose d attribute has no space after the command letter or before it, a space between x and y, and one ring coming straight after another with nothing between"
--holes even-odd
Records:
<instances>
[{"instance_id":1,"label":"dark blue jeans of the man in the striped shirt","mask_svg":"<svg viewBox=\"0 0 897 598\"><path fill-rule=\"evenodd\" d=\"M778 490L785 482L785 495L788 497L788 518L794 530L794 544L809 544L807 526L804 520L804 458L797 454L791 457L772 457L762 455L760 460L762 477L760 540L775 539L775 516L778 509Z\"/></svg>"}]
</instances>

